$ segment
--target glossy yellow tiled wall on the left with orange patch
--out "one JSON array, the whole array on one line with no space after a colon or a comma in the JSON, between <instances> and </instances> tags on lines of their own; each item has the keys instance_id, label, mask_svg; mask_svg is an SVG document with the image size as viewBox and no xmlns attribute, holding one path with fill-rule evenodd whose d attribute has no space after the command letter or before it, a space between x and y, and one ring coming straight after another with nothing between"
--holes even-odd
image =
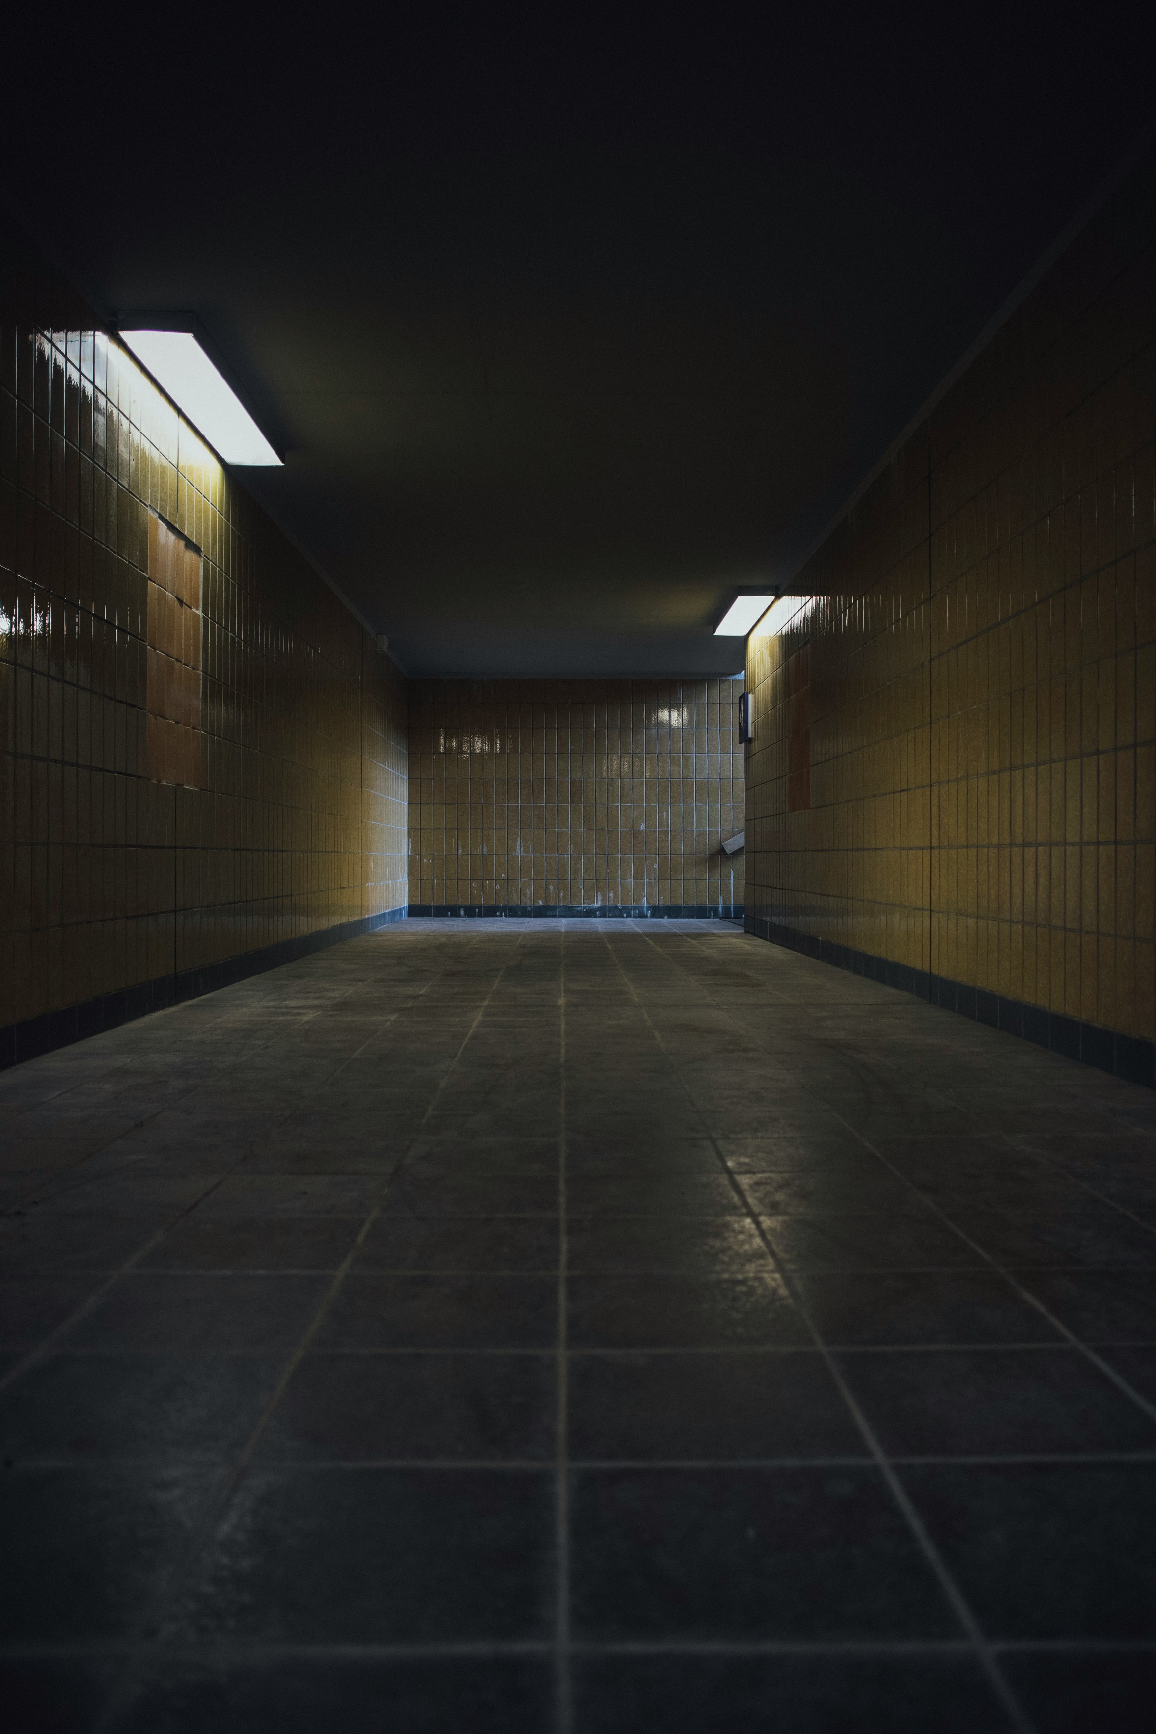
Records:
<instances>
[{"instance_id":1,"label":"glossy yellow tiled wall on the left with orange patch","mask_svg":"<svg viewBox=\"0 0 1156 1734\"><path fill-rule=\"evenodd\" d=\"M406 683L0 239L3 1061L404 907Z\"/></svg>"}]
</instances>

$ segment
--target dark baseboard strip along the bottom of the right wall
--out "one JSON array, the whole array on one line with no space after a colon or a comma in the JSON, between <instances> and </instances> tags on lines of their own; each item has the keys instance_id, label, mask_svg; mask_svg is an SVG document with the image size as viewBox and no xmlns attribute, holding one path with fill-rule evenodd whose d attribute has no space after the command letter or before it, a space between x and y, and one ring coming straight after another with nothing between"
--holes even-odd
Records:
<instances>
[{"instance_id":1,"label":"dark baseboard strip along the bottom of the right wall","mask_svg":"<svg viewBox=\"0 0 1156 1734\"><path fill-rule=\"evenodd\" d=\"M934 975L931 969L913 969L910 964L898 964L889 957L856 952L851 945L835 945L834 940L797 933L796 928L789 928L782 921L770 921L766 916L747 916L744 928L761 940L770 940L771 945L785 945L787 950L816 957L837 969L849 969L870 981L882 981L884 987L917 994L919 999L925 999L932 1006L945 1006L948 1011L958 1011L964 1018L988 1023L993 1030L1021 1035L1026 1042L1049 1047L1054 1054L1064 1054L1068 1059L1083 1059L1085 1065L1099 1066L1101 1072L1111 1072L1118 1079L1128 1079L1130 1084L1147 1084L1149 1089L1156 1084L1153 1042L1139 1040L1133 1035L1118 1035L1114 1030L1104 1030L1099 1023L1064 1018L1057 1011L1028 1006L1021 999L988 994L984 988L951 981L950 976Z\"/></svg>"}]
</instances>

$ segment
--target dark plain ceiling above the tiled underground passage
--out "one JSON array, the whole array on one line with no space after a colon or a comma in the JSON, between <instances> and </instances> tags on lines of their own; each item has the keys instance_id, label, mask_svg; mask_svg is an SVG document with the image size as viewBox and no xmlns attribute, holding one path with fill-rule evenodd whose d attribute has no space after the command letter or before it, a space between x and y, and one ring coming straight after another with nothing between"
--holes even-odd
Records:
<instances>
[{"instance_id":1,"label":"dark plain ceiling above the tiled underground passage","mask_svg":"<svg viewBox=\"0 0 1156 1734\"><path fill-rule=\"evenodd\" d=\"M248 486L411 673L731 673L733 590L1144 121L1123 12L929 16L94 35L12 203L101 314L199 316L286 451Z\"/></svg>"}]
</instances>

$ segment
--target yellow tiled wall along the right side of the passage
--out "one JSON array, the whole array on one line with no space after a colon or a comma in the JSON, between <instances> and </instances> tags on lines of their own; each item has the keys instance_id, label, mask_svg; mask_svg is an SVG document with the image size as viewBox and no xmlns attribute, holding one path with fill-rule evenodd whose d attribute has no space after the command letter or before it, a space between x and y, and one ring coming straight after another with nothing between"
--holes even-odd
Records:
<instances>
[{"instance_id":1,"label":"yellow tiled wall along the right side of the passage","mask_svg":"<svg viewBox=\"0 0 1156 1734\"><path fill-rule=\"evenodd\" d=\"M747 662L750 931L1149 1079L1154 336L1149 158Z\"/></svg>"}]
</instances>

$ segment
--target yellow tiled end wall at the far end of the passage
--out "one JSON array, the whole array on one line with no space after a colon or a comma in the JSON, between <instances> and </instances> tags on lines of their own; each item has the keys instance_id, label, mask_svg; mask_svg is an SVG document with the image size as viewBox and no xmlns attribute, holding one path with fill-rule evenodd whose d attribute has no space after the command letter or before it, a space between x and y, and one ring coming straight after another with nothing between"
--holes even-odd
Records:
<instances>
[{"instance_id":1,"label":"yellow tiled end wall at the far end of the passage","mask_svg":"<svg viewBox=\"0 0 1156 1734\"><path fill-rule=\"evenodd\" d=\"M742 907L738 692L411 681L411 912Z\"/></svg>"}]
</instances>

